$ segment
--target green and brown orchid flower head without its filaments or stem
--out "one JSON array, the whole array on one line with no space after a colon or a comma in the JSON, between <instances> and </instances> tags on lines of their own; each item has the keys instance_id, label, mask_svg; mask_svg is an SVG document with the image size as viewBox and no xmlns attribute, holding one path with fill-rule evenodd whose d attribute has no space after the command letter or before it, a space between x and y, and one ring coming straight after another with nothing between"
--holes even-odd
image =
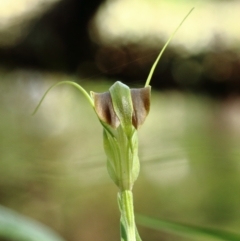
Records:
<instances>
[{"instance_id":1,"label":"green and brown orchid flower head without its filaments or stem","mask_svg":"<svg viewBox=\"0 0 240 241\"><path fill-rule=\"evenodd\" d=\"M138 177L137 128L150 108L150 86L130 89L117 81L109 92L91 92L103 125L104 150L110 177L120 190L132 190Z\"/></svg>"}]
</instances>

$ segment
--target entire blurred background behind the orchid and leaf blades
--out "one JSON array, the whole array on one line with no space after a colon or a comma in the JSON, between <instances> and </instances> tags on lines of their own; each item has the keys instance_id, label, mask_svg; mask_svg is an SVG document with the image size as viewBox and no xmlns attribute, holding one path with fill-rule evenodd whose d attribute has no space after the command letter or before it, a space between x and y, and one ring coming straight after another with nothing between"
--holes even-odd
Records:
<instances>
[{"instance_id":1,"label":"entire blurred background behind the orchid and leaf blades","mask_svg":"<svg viewBox=\"0 0 240 241\"><path fill-rule=\"evenodd\" d=\"M0 2L0 205L69 241L119 238L117 188L102 128L86 99L54 83L103 92L143 86L170 34L194 12L154 73L139 130L137 213L238 233L240 2ZM140 227L143 240L211 241ZM0 238L1 240L1 238Z\"/></svg>"}]
</instances>

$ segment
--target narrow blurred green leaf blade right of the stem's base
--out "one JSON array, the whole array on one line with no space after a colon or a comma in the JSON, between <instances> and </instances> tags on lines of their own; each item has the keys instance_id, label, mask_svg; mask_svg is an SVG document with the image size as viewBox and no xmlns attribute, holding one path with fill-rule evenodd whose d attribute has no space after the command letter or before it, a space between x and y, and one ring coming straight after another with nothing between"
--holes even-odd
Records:
<instances>
[{"instance_id":1,"label":"narrow blurred green leaf blade right of the stem's base","mask_svg":"<svg viewBox=\"0 0 240 241\"><path fill-rule=\"evenodd\" d=\"M149 218L136 215L136 221L144 227L165 231L185 237L209 237L216 240L240 241L240 234L231 233L223 230L198 227L193 225L181 224L177 222L165 221L161 219Z\"/></svg>"}]
</instances>

